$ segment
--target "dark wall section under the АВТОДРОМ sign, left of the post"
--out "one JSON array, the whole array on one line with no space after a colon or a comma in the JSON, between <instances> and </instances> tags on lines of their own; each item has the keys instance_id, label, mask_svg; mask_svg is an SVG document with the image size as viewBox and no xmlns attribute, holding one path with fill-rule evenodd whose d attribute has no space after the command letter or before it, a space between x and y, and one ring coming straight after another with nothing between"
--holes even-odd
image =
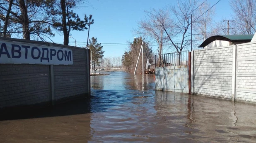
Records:
<instances>
[{"instance_id":1,"label":"dark wall section under the \u0410\u0412\u0422\u041e\u0414\u0420\u041e\u041c sign, left of the post","mask_svg":"<svg viewBox=\"0 0 256 143\"><path fill-rule=\"evenodd\" d=\"M0 108L51 99L49 66L0 64Z\"/></svg>"}]
</instances>

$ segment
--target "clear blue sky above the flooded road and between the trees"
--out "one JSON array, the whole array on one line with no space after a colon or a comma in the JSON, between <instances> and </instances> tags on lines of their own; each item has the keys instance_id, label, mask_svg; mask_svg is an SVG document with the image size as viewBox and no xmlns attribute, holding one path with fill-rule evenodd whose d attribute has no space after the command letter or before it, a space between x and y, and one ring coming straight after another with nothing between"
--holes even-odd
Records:
<instances>
[{"instance_id":1,"label":"clear blue sky above the flooded road and between the trees","mask_svg":"<svg viewBox=\"0 0 256 143\"><path fill-rule=\"evenodd\" d=\"M203 2L204 0L201 0ZM214 5L219 0L207 0ZM75 12L82 19L84 14L92 14L94 24L90 27L89 38L96 37L100 43L124 43L133 42L136 37L133 28L137 28L137 22L144 18L145 10L160 9L167 5L175 5L176 0L89 0L89 7L82 7ZM216 21L228 18L231 14L228 0L221 0L215 5ZM86 46L87 33L85 31L71 31L72 37L76 39L77 46ZM52 38L54 42L63 43L63 36L56 34ZM75 45L74 39L70 38L69 45ZM104 57L122 56L128 45L106 46L102 44L105 51ZM152 46L153 51L157 46Z\"/></svg>"}]
</instances>

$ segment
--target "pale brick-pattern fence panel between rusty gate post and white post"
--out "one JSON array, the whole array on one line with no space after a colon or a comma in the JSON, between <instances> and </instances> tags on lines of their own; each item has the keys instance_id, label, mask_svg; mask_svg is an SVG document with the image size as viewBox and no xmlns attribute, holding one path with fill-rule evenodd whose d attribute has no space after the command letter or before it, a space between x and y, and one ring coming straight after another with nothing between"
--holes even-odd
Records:
<instances>
[{"instance_id":1,"label":"pale brick-pattern fence panel between rusty gate post and white post","mask_svg":"<svg viewBox=\"0 0 256 143\"><path fill-rule=\"evenodd\" d=\"M193 92L232 99L233 46L194 51Z\"/></svg>"}]
</instances>

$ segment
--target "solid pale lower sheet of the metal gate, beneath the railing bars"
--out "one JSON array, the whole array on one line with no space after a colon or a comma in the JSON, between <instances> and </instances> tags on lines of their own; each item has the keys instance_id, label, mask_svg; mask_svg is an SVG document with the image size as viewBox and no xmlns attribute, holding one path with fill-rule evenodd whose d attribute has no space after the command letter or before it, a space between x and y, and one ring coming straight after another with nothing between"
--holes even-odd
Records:
<instances>
[{"instance_id":1,"label":"solid pale lower sheet of the metal gate, beneath the railing bars","mask_svg":"<svg viewBox=\"0 0 256 143\"><path fill-rule=\"evenodd\" d=\"M188 93L188 66L156 68L155 89Z\"/></svg>"}]
</instances>

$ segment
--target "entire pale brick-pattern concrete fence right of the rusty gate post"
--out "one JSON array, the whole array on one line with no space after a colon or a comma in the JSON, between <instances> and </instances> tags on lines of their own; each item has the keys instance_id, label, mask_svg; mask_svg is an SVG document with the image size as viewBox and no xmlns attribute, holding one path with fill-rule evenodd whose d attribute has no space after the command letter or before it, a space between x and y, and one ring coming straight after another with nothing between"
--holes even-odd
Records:
<instances>
[{"instance_id":1,"label":"entire pale brick-pattern concrete fence right of the rusty gate post","mask_svg":"<svg viewBox=\"0 0 256 143\"><path fill-rule=\"evenodd\" d=\"M192 52L191 93L256 103L256 42Z\"/></svg>"}]
</instances>

